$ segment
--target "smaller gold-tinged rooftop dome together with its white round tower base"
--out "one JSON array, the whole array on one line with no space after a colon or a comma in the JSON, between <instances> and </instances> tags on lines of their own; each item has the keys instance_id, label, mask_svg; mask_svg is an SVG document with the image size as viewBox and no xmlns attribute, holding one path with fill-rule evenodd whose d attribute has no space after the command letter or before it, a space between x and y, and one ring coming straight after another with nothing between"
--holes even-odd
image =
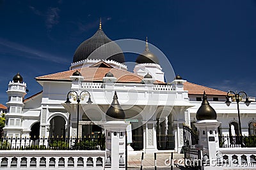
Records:
<instances>
[{"instance_id":1,"label":"smaller gold-tinged rooftop dome together with its white round tower base","mask_svg":"<svg viewBox=\"0 0 256 170\"><path fill-rule=\"evenodd\" d=\"M154 80L164 81L164 73L159 65L159 60L148 48L148 38L146 38L145 50L137 57L136 63L133 69L135 74L145 76L149 73Z\"/></svg>"}]
</instances>

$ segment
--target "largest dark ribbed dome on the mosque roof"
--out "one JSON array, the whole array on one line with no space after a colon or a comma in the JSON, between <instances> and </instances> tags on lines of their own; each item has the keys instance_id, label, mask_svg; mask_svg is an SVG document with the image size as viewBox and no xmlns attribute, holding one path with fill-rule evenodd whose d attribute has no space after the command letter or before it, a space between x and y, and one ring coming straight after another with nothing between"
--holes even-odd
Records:
<instances>
[{"instance_id":1,"label":"largest dark ribbed dome on the mosque roof","mask_svg":"<svg viewBox=\"0 0 256 170\"><path fill-rule=\"evenodd\" d=\"M106 45L107 43L108 45ZM97 48L100 50L90 55ZM109 39L108 36L106 36L106 34L102 31L101 27L91 38L83 41L83 43L77 47L76 52L74 53L73 62L79 62L84 59L103 59L115 60L116 62L120 63L125 62L124 53L122 52L120 46Z\"/></svg>"}]
</instances>

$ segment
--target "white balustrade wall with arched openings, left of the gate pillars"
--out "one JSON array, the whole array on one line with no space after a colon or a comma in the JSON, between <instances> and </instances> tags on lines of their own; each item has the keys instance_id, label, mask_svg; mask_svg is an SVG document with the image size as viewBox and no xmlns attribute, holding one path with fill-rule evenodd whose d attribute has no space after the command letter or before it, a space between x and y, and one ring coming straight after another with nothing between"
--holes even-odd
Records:
<instances>
[{"instance_id":1,"label":"white balustrade wall with arched openings, left of the gate pillars","mask_svg":"<svg viewBox=\"0 0 256 170\"><path fill-rule=\"evenodd\" d=\"M0 150L0 169L104 169L100 150Z\"/></svg>"}]
</instances>

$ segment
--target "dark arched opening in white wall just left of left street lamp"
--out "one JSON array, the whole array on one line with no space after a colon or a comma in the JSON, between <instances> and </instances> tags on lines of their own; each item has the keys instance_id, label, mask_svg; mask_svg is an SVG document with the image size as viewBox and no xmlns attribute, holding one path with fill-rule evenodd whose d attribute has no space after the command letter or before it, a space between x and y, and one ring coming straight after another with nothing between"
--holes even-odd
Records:
<instances>
[{"instance_id":1,"label":"dark arched opening in white wall just left of left street lamp","mask_svg":"<svg viewBox=\"0 0 256 170\"><path fill-rule=\"evenodd\" d=\"M57 136L59 138L61 138L61 136L65 136L65 124L66 121L63 117L56 116L52 118L50 121L50 136L54 136L54 138L56 138Z\"/></svg>"}]
</instances>

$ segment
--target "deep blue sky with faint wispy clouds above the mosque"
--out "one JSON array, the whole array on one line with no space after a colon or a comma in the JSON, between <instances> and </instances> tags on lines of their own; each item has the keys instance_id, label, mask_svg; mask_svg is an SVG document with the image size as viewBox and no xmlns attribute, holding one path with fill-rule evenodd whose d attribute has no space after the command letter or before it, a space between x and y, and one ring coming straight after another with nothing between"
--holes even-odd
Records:
<instances>
[{"instance_id":1,"label":"deep blue sky with faint wispy clouds above the mosque","mask_svg":"<svg viewBox=\"0 0 256 170\"><path fill-rule=\"evenodd\" d=\"M185 80L256 96L256 1L0 0L0 16L0 103L17 72L31 96L36 76L68 70L100 17L113 40L148 36Z\"/></svg>"}]
</instances>

